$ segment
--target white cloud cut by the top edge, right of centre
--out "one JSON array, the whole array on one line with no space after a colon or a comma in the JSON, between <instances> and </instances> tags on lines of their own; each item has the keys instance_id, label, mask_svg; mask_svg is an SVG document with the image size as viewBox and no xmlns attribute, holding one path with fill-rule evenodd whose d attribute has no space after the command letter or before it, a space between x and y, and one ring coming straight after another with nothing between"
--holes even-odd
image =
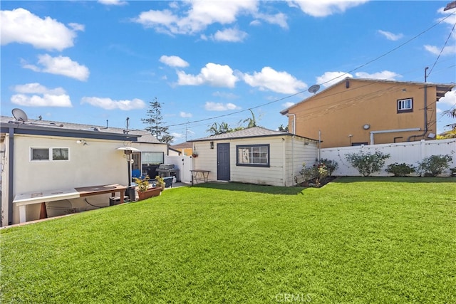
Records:
<instances>
[{"instance_id":1,"label":"white cloud cut by the top edge, right of centre","mask_svg":"<svg viewBox=\"0 0 456 304\"><path fill-rule=\"evenodd\" d=\"M347 9L366 3L368 0L286 0L289 6L299 7L314 17L326 17L343 13Z\"/></svg>"}]
</instances>

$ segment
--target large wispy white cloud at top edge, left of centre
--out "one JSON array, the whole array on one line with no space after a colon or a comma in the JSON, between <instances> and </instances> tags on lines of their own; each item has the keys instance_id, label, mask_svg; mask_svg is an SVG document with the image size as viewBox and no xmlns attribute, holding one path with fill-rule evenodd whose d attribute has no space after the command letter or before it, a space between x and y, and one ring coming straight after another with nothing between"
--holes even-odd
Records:
<instances>
[{"instance_id":1,"label":"large wispy white cloud at top edge, left of centre","mask_svg":"<svg viewBox=\"0 0 456 304\"><path fill-rule=\"evenodd\" d=\"M172 2L171 9L176 9L177 2ZM134 22L147 28L155 28L158 32L172 34L189 34L203 31L209 24L230 24L236 21L239 14L257 11L257 0L247 1L184 1L190 4L184 16L163 11L143 11Z\"/></svg>"}]
</instances>

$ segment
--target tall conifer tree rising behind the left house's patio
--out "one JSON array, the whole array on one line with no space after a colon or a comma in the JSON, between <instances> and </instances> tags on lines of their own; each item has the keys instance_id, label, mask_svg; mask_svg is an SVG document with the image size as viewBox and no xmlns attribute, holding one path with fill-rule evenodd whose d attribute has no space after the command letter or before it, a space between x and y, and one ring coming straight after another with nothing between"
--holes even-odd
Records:
<instances>
[{"instance_id":1,"label":"tall conifer tree rising behind the left house's patio","mask_svg":"<svg viewBox=\"0 0 456 304\"><path fill-rule=\"evenodd\" d=\"M159 142L170 144L174 136L168 133L168 127L163 126L162 105L157 98L149 102L149 109L146 111L147 118L141 118L141 121L147 125L145 128L150 134L154 135Z\"/></svg>"}]
</instances>

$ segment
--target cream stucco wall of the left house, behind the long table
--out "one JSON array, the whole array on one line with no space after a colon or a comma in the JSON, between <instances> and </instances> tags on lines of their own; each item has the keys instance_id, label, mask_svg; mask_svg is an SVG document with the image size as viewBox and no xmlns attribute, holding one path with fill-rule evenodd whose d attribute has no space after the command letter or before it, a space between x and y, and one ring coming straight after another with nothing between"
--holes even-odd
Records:
<instances>
[{"instance_id":1,"label":"cream stucco wall of the left house, behind the long table","mask_svg":"<svg viewBox=\"0 0 456 304\"><path fill-rule=\"evenodd\" d=\"M116 150L124 145L123 142L86 139L87 145L83 145L76 140L78 139L71 137L14 135L13 196L43 190L128 183L125 154ZM68 148L69 160L31 161L31 147ZM87 199L90 204L108 206L109 196L110 194L103 194L89 196ZM70 203L77 211L94 209L84 199L71 199ZM40 204L27 206L26 220L38 219L39 210ZM3 208L2 211L6 212ZM13 224L18 222L19 208L14 206Z\"/></svg>"}]
</instances>

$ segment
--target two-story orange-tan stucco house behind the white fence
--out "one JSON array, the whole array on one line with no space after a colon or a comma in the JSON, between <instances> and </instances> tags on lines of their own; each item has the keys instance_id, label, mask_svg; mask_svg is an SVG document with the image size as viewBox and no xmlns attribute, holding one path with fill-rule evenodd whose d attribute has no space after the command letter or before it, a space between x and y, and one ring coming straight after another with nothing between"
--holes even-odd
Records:
<instances>
[{"instance_id":1,"label":"two-story orange-tan stucco house behind the white fence","mask_svg":"<svg viewBox=\"0 0 456 304\"><path fill-rule=\"evenodd\" d=\"M322 148L435 139L436 103L453 86L346 78L281 114Z\"/></svg>"}]
</instances>

